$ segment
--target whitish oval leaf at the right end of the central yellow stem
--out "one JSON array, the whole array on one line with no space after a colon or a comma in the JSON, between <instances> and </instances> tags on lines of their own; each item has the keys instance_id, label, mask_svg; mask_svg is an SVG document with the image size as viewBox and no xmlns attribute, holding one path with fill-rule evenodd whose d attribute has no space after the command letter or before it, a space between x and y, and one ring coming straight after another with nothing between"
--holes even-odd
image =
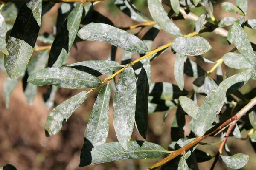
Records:
<instances>
[{"instance_id":1,"label":"whitish oval leaf at the right end of the central yellow stem","mask_svg":"<svg viewBox=\"0 0 256 170\"><path fill-rule=\"evenodd\" d=\"M203 37L179 37L173 40L172 48L177 53L196 56L206 53L212 46Z\"/></svg>"}]
</instances>

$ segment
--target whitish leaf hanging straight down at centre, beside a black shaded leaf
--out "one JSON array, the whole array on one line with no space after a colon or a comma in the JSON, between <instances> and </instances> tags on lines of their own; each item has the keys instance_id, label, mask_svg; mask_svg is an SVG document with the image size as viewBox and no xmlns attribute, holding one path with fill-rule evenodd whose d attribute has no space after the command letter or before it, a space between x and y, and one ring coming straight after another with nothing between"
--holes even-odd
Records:
<instances>
[{"instance_id":1,"label":"whitish leaf hanging straight down at centre, beside a black shaded leaf","mask_svg":"<svg viewBox=\"0 0 256 170\"><path fill-rule=\"evenodd\" d=\"M113 125L121 146L127 150L134 127L136 106L136 79L133 68L122 71L116 85L113 101Z\"/></svg>"}]
</instances>

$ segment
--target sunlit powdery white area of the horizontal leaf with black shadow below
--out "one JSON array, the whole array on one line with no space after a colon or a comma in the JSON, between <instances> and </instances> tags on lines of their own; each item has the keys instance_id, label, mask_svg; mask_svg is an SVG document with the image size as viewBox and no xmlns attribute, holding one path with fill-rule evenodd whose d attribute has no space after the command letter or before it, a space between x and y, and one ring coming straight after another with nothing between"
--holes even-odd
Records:
<instances>
[{"instance_id":1,"label":"sunlit powdery white area of the horizontal leaf with black shadow below","mask_svg":"<svg viewBox=\"0 0 256 170\"><path fill-rule=\"evenodd\" d=\"M88 68L91 68L92 70L99 71L101 74L105 74L105 73L122 68L119 62L110 61L110 60L89 60L89 61L76 62L74 64L70 64L67 66L68 67L86 66Z\"/></svg>"}]
</instances>

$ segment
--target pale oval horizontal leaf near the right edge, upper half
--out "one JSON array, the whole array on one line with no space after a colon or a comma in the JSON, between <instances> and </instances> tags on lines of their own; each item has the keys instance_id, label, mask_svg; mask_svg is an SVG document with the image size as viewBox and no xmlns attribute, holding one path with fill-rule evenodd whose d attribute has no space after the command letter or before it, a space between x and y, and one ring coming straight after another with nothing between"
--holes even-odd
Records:
<instances>
[{"instance_id":1,"label":"pale oval horizontal leaf near the right edge, upper half","mask_svg":"<svg viewBox=\"0 0 256 170\"><path fill-rule=\"evenodd\" d=\"M222 59L225 65L230 68L253 68L253 65L251 65L242 54L227 53L222 57Z\"/></svg>"}]
</instances>

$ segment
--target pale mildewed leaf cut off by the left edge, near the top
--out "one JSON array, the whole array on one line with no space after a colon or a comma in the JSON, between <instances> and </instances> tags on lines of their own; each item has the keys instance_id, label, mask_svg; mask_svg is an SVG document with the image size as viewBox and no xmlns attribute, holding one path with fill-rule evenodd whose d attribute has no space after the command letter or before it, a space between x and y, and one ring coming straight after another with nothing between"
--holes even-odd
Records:
<instances>
[{"instance_id":1,"label":"pale mildewed leaf cut off by the left edge, near the top","mask_svg":"<svg viewBox=\"0 0 256 170\"><path fill-rule=\"evenodd\" d=\"M6 33L7 33L6 23L2 14L0 13L0 51L2 51L3 54L9 55L6 49Z\"/></svg>"}]
</instances>

